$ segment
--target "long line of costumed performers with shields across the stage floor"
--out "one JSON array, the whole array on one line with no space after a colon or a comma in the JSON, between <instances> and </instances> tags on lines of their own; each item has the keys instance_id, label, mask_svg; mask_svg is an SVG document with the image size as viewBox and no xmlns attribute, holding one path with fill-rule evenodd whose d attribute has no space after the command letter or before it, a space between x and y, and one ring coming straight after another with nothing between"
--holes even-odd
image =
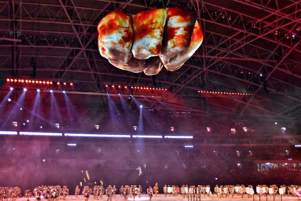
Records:
<instances>
[{"instance_id":1,"label":"long line of costumed performers with shields across the stage floor","mask_svg":"<svg viewBox=\"0 0 301 201\"><path fill-rule=\"evenodd\" d=\"M257 185L256 188L253 188L252 185L244 186L244 185L225 185L225 186L218 186L214 187L214 192L211 191L209 185L198 185L196 186L188 186L182 185L182 187L178 187L176 185L164 185L163 193L165 196L178 196L180 194L183 198L193 196L193 197L201 197L203 196L210 196L216 195L219 198L223 197L234 197L234 195L247 196L248 198L252 198L253 194L258 194L258 196L270 196L273 198L278 197L279 195L287 196L291 195L293 197L297 197L299 200L301 197L301 186L297 185L282 185L277 187L276 185L266 186L266 185ZM88 201L89 197L93 195L94 199L103 199L103 195L106 194L107 201L112 200L112 197L116 196L117 188L116 186L109 185L106 189L103 185L94 186L92 188L85 186L82 190L82 194L85 197L85 201ZM150 200L153 197L153 194L157 196L159 193L158 184L152 188L151 186L146 190ZM75 195L81 193L80 187L76 186L75 188ZM119 189L120 196L123 196L125 200L132 198L135 200L136 196L141 197L142 187L139 185L125 185L121 186ZM48 201L57 201L59 199L66 199L69 194L69 189L67 186L39 186L36 187L33 192L30 190L25 190L25 196L27 198L35 196L37 200L47 199ZM17 198L21 197L21 189L19 187L0 187L0 201L15 201Z\"/></svg>"}]
</instances>

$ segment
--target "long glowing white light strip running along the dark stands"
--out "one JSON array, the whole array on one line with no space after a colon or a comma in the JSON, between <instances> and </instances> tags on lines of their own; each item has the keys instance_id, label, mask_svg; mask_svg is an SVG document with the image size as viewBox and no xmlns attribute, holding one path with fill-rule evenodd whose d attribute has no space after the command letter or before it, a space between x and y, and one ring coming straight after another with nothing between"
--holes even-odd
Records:
<instances>
[{"instance_id":1,"label":"long glowing white light strip running along the dark stands","mask_svg":"<svg viewBox=\"0 0 301 201\"><path fill-rule=\"evenodd\" d=\"M0 135L17 135L15 131L0 131ZM41 132L19 132L20 135L39 135L39 136L63 136L63 133L41 133ZM69 137L131 137L131 135L117 134L81 134L81 133L64 133L64 136ZM138 138L163 138L162 135L133 135ZM191 139L193 136L164 136L164 138L186 138Z\"/></svg>"}]
</instances>

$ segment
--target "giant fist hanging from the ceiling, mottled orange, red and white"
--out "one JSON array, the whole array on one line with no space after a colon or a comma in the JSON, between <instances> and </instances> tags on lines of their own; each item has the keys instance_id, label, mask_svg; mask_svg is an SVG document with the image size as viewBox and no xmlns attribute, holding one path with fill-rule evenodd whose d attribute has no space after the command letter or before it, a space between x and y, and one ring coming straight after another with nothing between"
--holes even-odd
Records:
<instances>
[{"instance_id":1,"label":"giant fist hanging from the ceiling, mottled orange, red and white","mask_svg":"<svg viewBox=\"0 0 301 201\"><path fill-rule=\"evenodd\" d=\"M98 49L122 70L158 74L179 69L200 47L195 14L180 8L148 10L132 18L114 11L98 24Z\"/></svg>"}]
</instances>

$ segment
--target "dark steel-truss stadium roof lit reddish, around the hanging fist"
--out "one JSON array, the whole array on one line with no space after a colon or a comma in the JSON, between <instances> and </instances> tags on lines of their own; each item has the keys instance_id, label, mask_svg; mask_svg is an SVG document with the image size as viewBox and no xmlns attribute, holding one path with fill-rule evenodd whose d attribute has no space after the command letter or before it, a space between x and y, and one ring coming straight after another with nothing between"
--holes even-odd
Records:
<instances>
[{"instance_id":1,"label":"dark steel-truss stadium roof lit reddish, around the hanging fist","mask_svg":"<svg viewBox=\"0 0 301 201\"><path fill-rule=\"evenodd\" d=\"M203 44L182 68L151 77L101 57L97 25L106 14L166 7L195 10L203 30ZM170 93L150 100L152 108L296 119L300 17L297 0L0 0L0 80L33 77L36 68L36 78L70 80L86 92L99 93L106 83L156 83ZM253 96L195 97L198 90Z\"/></svg>"}]
</instances>

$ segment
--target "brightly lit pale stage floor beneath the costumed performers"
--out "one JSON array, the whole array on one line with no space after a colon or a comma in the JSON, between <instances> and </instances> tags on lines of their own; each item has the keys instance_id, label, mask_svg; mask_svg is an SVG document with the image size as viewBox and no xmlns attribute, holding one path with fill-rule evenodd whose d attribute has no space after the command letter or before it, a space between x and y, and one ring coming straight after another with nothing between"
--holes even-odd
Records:
<instances>
[{"instance_id":1,"label":"brightly lit pale stage floor beneath the costumed performers","mask_svg":"<svg viewBox=\"0 0 301 201\"><path fill-rule=\"evenodd\" d=\"M279 196L280 197L280 196ZM266 199L266 197L260 197L260 201L266 201L266 200L268 200L268 201L273 201L273 197L270 197L269 195L267 196L267 198L268 199ZM241 198L241 196L234 196L234 198L232 198L231 196L230 197L226 197L226 198L220 198L219 199L219 197L217 197L216 195L211 195L211 196L201 196L201 200L206 200L206 201L213 201L213 200L215 200L215 201L218 201L218 200L228 200L228 201L238 201L238 200L250 200L250 201L252 201L253 200L253 198L247 198L247 195L246 196L244 196L244 198ZM20 200L20 201L26 201L26 198L25 197L22 197L22 198L19 198L19 199L17 199L17 200ZM30 201L36 201L36 199L35 198L30 198L29 199ZM44 201L45 199L42 199L41 201ZM75 197L74 195L69 195L69 196L67 196L67 198L66 198L66 201L84 201L85 200L85 198L83 197L83 195L79 195L78 197ZM99 199L99 200L107 200L107 196L103 196L103 199ZM124 198L123 197L120 197L119 196L119 194L118 195L116 195L116 197L113 197L112 198L112 200L115 200L115 201L122 201L122 200L124 200ZM128 200L133 200L133 198L129 198ZM139 198L138 196L137 197L135 197L135 201L143 201L143 200L149 200L149 197L146 195L146 194L143 194L143 195L141 195L141 198ZM163 201L163 200L170 200L170 201L173 201L173 200L187 200L188 201L188 198L183 198L182 196L180 196L180 195L178 195L178 196L176 196L176 197L173 197L173 196L167 196L167 197L165 197L164 196L164 194L158 194L157 196L153 196L152 197L152 199L151 200L154 200L154 201ZM190 198L189 198L189 200L191 200ZM192 201L193 200L195 200L195 201L197 201L197 200L200 200L200 198L198 198L198 199L196 199L196 198L194 198L193 199L193 197L192 197ZM259 197L258 197L258 195L256 194L255 196L254 196L254 200L256 200L256 201L259 201ZM276 197L275 198L275 201L277 201L277 200L281 200L281 199L278 199L278 197ZM287 195L287 196L282 196L282 200L284 200L284 201L296 201L296 200L298 200L298 198L296 198L296 197L292 197L291 195ZM46 200L45 200L46 201ZM62 200L63 201L63 200ZM90 197L89 198L89 201L96 201L96 199L93 199L93 196L92 197Z\"/></svg>"}]
</instances>

